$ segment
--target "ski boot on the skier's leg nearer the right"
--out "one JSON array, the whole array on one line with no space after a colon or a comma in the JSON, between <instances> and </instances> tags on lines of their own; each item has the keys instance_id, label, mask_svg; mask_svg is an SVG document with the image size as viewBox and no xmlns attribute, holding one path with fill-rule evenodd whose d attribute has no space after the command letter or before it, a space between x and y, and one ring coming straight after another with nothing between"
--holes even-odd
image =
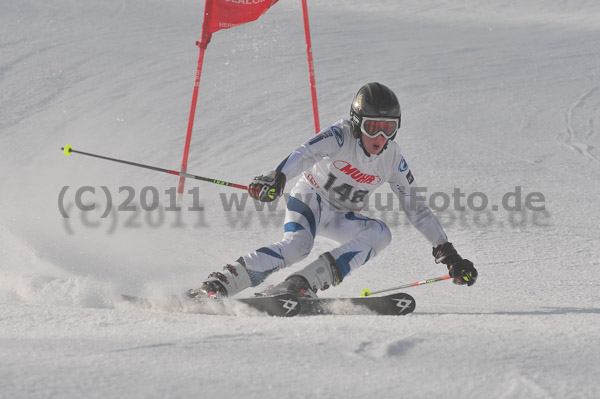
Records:
<instances>
[{"instance_id":1,"label":"ski boot on the skier's leg nearer the right","mask_svg":"<svg viewBox=\"0 0 600 399\"><path fill-rule=\"evenodd\" d=\"M342 272L337 262L329 252L325 252L282 283L269 287L257 295L293 294L299 298L316 299L318 290L326 290L331 285L338 285L341 282Z\"/></svg>"}]
</instances>

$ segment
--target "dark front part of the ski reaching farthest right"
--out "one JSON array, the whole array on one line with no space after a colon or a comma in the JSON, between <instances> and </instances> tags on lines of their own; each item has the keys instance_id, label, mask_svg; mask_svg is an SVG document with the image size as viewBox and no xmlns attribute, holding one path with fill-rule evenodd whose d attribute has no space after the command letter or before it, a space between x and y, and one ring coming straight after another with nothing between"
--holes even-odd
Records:
<instances>
[{"instance_id":1,"label":"dark front part of the ski reaching farthest right","mask_svg":"<svg viewBox=\"0 0 600 399\"><path fill-rule=\"evenodd\" d=\"M301 315L364 315L401 316L415 310L415 299L405 293L374 297L300 298Z\"/></svg>"}]
</instances>

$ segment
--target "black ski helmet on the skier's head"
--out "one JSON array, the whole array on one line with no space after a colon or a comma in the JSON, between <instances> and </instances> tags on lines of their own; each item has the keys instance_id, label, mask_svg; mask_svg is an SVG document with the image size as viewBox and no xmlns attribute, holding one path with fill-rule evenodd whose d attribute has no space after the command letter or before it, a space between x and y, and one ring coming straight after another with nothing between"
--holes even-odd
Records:
<instances>
[{"instance_id":1,"label":"black ski helmet on the skier's head","mask_svg":"<svg viewBox=\"0 0 600 399\"><path fill-rule=\"evenodd\" d=\"M361 139L360 124L364 116L373 118L398 118L398 129L402 112L398 97L389 87L381 83L367 83L358 90L350 107L350 121L352 122L354 137ZM394 134L390 140L394 140ZM386 144L387 147L387 144ZM385 149L385 147L384 147Z\"/></svg>"}]
</instances>

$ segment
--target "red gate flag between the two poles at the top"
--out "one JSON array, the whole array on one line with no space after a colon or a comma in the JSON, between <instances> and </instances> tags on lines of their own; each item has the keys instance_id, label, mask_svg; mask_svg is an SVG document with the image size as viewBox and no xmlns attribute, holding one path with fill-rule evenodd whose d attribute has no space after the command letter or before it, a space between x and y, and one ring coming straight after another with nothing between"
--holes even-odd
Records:
<instances>
[{"instance_id":1,"label":"red gate flag between the two poles at the top","mask_svg":"<svg viewBox=\"0 0 600 399\"><path fill-rule=\"evenodd\" d=\"M233 28L258 19L277 1L206 0L201 44L206 48L212 34L218 30Z\"/></svg>"}]
</instances>

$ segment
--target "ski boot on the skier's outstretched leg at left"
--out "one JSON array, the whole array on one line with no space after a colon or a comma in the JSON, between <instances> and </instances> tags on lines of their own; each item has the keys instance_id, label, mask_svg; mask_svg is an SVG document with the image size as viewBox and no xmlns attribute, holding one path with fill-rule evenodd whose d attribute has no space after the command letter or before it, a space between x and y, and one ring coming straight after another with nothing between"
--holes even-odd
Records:
<instances>
[{"instance_id":1,"label":"ski boot on the skier's outstretched leg at left","mask_svg":"<svg viewBox=\"0 0 600 399\"><path fill-rule=\"evenodd\" d=\"M224 298L233 296L250 287L250 276L246 270L246 262L240 257L233 265L223 267L223 273L214 272L202 283L199 288L192 288L185 292L188 298Z\"/></svg>"}]
</instances>

